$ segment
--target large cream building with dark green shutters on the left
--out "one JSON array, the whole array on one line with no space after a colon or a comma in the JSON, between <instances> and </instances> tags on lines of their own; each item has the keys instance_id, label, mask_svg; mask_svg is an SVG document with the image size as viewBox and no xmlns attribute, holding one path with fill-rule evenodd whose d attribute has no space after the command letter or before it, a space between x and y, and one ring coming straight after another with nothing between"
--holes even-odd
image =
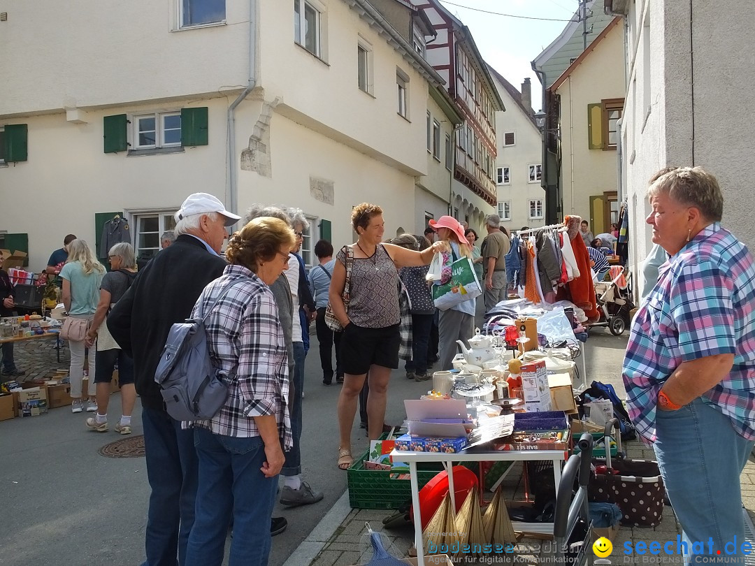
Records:
<instances>
[{"instance_id":1,"label":"large cream building with dark green shutters on the left","mask_svg":"<svg viewBox=\"0 0 755 566\"><path fill-rule=\"evenodd\" d=\"M116 213L149 257L196 191L239 214L303 208L307 263L318 238L352 241L362 201L384 208L387 235L421 228L415 179L428 174L429 85L443 80L418 52L424 33L397 31L366 0L3 11L0 231L28 238L34 271L69 232L94 247Z\"/></svg>"}]
</instances>

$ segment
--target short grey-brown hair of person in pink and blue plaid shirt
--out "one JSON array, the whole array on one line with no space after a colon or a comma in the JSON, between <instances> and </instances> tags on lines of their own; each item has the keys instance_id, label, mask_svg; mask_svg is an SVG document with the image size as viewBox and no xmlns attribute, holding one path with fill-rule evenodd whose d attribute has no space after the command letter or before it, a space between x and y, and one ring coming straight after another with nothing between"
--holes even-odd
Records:
<instances>
[{"instance_id":1,"label":"short grey-brown hair of person in pink and blue plaid shirt","mask_svg":"<svg viewBox=\"0 0 755 566\"><path fill-rule=\"evenodd\" d=\"M664 194L682 205L698 208L705 220L720 222L723 194L716 177L701 167L678 167L652 182L648 198Z\"/></svg>"}]
</instances>

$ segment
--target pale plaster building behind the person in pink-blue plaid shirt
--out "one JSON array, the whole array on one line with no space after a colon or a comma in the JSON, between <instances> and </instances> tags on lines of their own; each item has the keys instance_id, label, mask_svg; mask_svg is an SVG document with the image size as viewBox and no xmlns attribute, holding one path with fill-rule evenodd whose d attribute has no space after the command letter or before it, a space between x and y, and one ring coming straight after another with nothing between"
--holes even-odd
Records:
<instances>
[{"instance_id":1,"label":"pale plaster building behind the person in pink-blue plaid shirt","mask_svg":"<svg viewBox=\"0 0 755 566\"><path fill-rule=\"evenodd\" d=\"M723 225L752 251L755 2L604 2L624 17L626 33L621 169L634 275L652 246L647 182L670 165L699 165L716 176Z\"/></svg>"}]
</instances>

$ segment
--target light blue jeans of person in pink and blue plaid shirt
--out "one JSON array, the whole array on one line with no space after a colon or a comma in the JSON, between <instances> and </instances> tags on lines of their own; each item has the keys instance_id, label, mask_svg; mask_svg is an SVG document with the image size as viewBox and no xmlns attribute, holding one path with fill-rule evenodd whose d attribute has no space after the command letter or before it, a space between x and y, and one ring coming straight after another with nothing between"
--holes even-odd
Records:
<instances>
[{"instance_id":1,"label":"light blue jeans of person in pink and blue plaid shirt","mask_svg":"<svg viewBox=\"0 0 755 566\"><path fill-rule=\"evenodd\" d=\"M729 417L700 398L679 411L658 411L655 432L655 456L689 554L716 555L720 550L724 556L726 543L732 543L734 537L740 552L744 520L739 475L753 441L738 435ZM705 544L693 549L694 542ZM733 550L732 544L729 549ZM743 555L738 556L744 564Z\"/></svg>"}]
</instances>

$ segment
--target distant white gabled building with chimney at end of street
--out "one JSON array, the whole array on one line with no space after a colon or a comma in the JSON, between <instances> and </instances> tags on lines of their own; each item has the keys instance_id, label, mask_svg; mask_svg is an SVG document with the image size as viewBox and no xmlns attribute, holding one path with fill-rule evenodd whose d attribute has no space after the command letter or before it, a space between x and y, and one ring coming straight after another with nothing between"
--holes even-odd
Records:
<instances>
[{"instance_id":1,"label":"distant white gabled building with chimney at end of street","mask_svg":"<svg viewBox=\"0 0 755 566\"><path fill-rule=\"evenodd\" d=\"M544 226L542 146L540 130L532 112L532 84L529 78L525 78L522 92L519 92L492 66L488 69L507 109L495 115L498 216L509 231L522 226Z\"/></svg>"}]
</instances>

